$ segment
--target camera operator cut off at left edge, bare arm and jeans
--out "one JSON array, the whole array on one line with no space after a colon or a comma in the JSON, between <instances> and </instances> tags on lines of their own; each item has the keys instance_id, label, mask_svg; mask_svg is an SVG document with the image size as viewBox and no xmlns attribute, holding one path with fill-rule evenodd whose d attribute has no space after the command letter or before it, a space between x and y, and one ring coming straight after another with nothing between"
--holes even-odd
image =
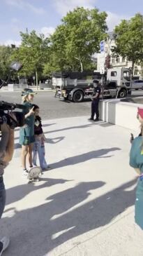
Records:
<instances>
[{"instance_id":1,"label":"camera operator cut off at left edge, bare arm and jeans","mask_svg":"<svg viewBox=\"0 0 143 256\"><path fill-rule=\"evenodd\" d=\"M15 119L16 117L13 113L9 114L10 117ZM14 151L14 129L11 129L10 126L3 120L0 119L0 130L1 130L1 141L0 141L0 218L3 214L3 210L6 204L6 189L3 182L3 173L8 163L13 158ZM6 250L9 244L9 239L3 237L0 241L0 256L2 252Z\"/></svg>"}]
</instances>

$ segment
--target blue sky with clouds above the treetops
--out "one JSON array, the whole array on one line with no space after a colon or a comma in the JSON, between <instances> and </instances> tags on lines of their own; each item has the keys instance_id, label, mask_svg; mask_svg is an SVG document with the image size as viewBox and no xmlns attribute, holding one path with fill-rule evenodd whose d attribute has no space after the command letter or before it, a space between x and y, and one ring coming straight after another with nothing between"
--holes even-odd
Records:
<instances>
[{"instance_id":1,"label":"blue sky with clouds above the treetops","mask_svg":"<svg viewBox=\"0 0 143 256\"><path fill-rule=\"evenodd\" d=\"M109 31L122 19L143 13L143 0L0 0L0 44L18 46L20 31L26 29L48 36L77 6L106 11Z\"/></svg>"}]
</instances>

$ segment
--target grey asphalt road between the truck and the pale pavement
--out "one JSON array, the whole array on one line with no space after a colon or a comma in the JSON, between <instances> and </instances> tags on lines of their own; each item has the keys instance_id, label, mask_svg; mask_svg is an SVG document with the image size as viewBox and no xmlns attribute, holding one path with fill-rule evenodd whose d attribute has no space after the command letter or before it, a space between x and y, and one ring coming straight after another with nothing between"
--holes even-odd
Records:
<instances>
[{"instance_id":1,"label":"grey asphalt road between the truck and the pale pavement","mask_svg":"<svg viewBox=\"0 0 143 256\"><path fill-rule=\"evenodd\" d=\"M0 92L0 100L21 103L20 92ZM65 102L54 97L54 92L38 92L33 103L40 107L40 116L45 119L59 119L73 116L90 117L91 101L81 103Z\"/></svg>"}]
</instances>

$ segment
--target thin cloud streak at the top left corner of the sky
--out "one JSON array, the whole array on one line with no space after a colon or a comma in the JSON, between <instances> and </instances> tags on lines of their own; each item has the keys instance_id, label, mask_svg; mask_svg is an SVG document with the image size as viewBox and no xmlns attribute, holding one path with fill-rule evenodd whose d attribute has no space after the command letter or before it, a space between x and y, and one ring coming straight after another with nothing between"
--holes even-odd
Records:
<instances>
[{"instance_id":1,"label":"thin cloud streak at the top left corner of the sky","mask_svg":"<svg viewBox=\"0 0 143 256\"><path fill-rule=\"evenodd\" d=\"M16 8L20 8L24 10L28 9L36 14L45 13L45 10L43 8L38 8L36 6L33 6L28 1L24 1L24 0L6 0L6 4L8 4L9 6L14 6Z\"/></svg>"}]
</instances>

